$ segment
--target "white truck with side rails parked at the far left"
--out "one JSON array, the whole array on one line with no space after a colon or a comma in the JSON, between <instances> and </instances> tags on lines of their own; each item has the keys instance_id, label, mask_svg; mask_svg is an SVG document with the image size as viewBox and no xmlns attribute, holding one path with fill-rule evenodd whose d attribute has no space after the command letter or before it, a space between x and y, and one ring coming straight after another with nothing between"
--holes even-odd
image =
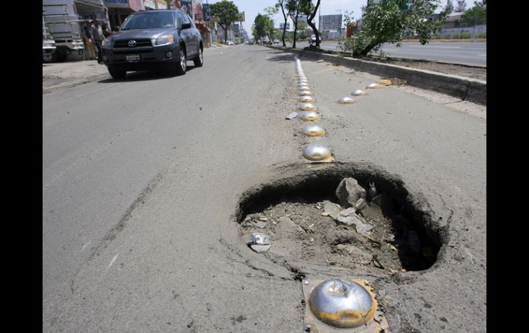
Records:
<instances>
[{"instance_id":1,"label":"white truck with side rails parked at the far left","mask_svg":"<svg viewBox=\"0 0 529 333\"><path fill-rule=\"evenodd\" d=\"M75 52L85 58L82 25L89 19L106 21L105 9L103 0L43 0L43 34L46 29L56 47L54 53L47 52L47 60L65 61Z\"/></svg>"}]
</instances>

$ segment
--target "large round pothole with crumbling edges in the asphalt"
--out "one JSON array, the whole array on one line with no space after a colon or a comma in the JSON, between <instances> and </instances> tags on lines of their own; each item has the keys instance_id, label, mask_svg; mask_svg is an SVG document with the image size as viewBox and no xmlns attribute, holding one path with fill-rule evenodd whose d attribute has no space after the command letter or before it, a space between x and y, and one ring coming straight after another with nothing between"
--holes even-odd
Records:
<instances>
[{"instance_id":1,"label":"large round pothole with crumbling edges in the asphalt","mask_svg":"<svg viewBox=\"0 0 529 333\"><path fill-rule=\"evenodd\" d=\"M369 231L359 228L361 223L344 225L336 212L329 216L326 209L340 203L335 192L348 177L366 191L367 205L354 214ZM372 184L376 195L370 195ZM425 207L427 203L409 196L396 176L337 165L249 190L239 202L236 218L245 242L251 233L269 236L267 256L275 262L392 274L423 271L437 260L443 240ZM345 209L342 205L340 214Z\"/></svg>"}]
</instances>

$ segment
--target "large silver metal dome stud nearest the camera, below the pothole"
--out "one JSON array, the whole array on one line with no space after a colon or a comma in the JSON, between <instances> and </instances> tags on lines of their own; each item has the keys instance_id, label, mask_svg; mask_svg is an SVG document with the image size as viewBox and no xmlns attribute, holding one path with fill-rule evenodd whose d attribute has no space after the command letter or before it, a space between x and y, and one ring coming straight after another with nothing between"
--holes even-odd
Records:
<instances>
[{"instance_id":1,"label":"large silver metal dome stud nearest the camera, below the pothole","mask_svg":"<svg viewBox=\"0 0 529 333\"><path fill-rule=\"evenodd\" d=\"M329 279L311 292L308 306L317 319L338 328L354 328L368 323L376 311L376 301L357 282Z\"/></svg>"}]
</instances>

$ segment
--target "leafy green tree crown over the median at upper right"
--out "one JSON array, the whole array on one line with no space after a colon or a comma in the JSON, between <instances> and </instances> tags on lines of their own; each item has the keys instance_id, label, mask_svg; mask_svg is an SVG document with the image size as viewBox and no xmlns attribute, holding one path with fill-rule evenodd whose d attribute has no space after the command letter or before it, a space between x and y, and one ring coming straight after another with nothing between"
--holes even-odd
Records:
<instances>
[{"instance_id":1,"label":"leafy green tree crown over the median at upper right","mask_svg":"<svg viewBox=\"0 0 529 333\"><path fill-rule=\"evenodd\" d=\"M447 13L442 12L438 21L430 19L440 5L439 0L415 0L409 8L407 3L407 0L388 0L365 8L361 30L353 39L354 55L367 56L383 43L396 43L399 47L407 31L414 32L425 45L440 31Z\"/></svg>"}]
</instances>

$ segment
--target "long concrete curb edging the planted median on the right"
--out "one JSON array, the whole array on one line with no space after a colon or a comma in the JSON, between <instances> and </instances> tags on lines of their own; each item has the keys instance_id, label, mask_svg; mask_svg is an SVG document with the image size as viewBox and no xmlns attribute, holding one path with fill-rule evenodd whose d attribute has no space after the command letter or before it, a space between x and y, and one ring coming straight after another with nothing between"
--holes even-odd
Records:
<instances>
[{"instance_id":1,"label":"long concrete curb edging the planted median on the right","mask_svg":"<svg viewBox=\"0 0 529 333\"><path fill-rule=\"evenodd\" d=\"M397 65L383 64L360 59L344 58L334 54L323 54L301 49L289 49L267 45L271 49L287 51L307 56L308 58L322 59L335 65L350 67L366 73L384 76L387 78L399 78L407 84L432 91L438 91L446 95L458 97L461 100L486 105L486 81L452 76L423 69L411 69Z\"/></svg>"}]
</instances>

